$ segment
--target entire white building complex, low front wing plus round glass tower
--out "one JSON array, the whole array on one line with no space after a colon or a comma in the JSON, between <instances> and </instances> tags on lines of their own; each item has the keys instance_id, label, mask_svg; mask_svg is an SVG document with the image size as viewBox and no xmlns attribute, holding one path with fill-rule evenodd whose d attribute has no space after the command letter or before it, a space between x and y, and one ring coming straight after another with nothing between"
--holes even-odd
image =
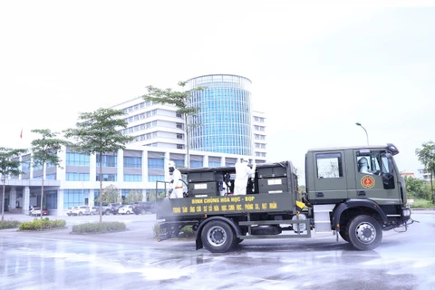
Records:
<instances>
[{"instance_id":1,"label":"entire white building complex, low front wing plus round glass tower","mask_svg":"<svg viewBox=\"0 0 435 290\"><path fill-rule=\"evenodd\" d=\"M189 166L231 166L241 158L256 163L266 161L266 117L253 111L251 81L230 74L213 74L193 78L189 88L205 87L196 92L190 105L199 109L198 123L192 131ZM114 185L120 198L132 190L147 198L155 192L156 181L169 179L168 160L176 165L188 164L186 131L177 108L168 104L144 102L141 97L111 107L123 110L128 127L121 132L134 136L126 150L95 155L63 150L61 168L49 166L42 170L32 167L32 156L21 157L22 174L6 179L6 207L22 208L41 202L44 179L44 204L53 215L62 216L64 209L83 204L93 205L103 187ZM192 120L190 120L192 121ZM98 168L102 161L102 176ZM44 171L44 172L43 172Z\"/></svg>"}]
</instances>

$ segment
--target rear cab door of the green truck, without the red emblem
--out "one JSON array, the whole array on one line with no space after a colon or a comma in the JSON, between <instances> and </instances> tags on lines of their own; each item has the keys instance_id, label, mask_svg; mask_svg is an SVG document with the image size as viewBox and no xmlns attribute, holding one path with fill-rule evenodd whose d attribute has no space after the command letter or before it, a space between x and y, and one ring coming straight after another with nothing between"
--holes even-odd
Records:
<instances>
[{"instance_id":1,"label":"rear cab door of the green truck, without the red emblem","mask_svg":"<svg viewBox=\"0 0 435 290\"><path fill-rule=\"evenodd\" d=\"M344 158L343 150L314 153L314 190L309 190L310 202L329 204L348 197Z\"/></svg>"}]
</instances>

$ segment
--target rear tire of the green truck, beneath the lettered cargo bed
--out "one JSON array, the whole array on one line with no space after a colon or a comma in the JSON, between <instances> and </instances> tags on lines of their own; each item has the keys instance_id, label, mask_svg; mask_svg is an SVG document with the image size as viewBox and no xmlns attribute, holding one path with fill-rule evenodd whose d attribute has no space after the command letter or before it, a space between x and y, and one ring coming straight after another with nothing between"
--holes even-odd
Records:
<instances>
[{"instance_id":1,"label":"rear tire of the green truck, beneath the lettered cargo bed","mask_svg":"<svg viewBox=\"0 0 435 290\"><path fill-rule=\"evenodd\" d=\"M201 232L202 244L211 253L225 253L234 245L233 229L222 220L209 221Z\"/></svg>"}]
</instances>

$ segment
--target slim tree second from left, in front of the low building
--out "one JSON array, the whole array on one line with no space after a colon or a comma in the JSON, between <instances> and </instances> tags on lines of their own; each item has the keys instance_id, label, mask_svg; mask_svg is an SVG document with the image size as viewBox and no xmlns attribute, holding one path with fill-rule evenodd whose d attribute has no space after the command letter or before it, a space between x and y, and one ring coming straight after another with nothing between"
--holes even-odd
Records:
<instances>
[{"instance_id":1,"label":"slim tree second from left, in front of the low building","mask_svg":"<svg viewBox=\"0 0 435 290\"><path fill-rule=\"evenodd\" d=\"M41 139L35 139L31 143L34 168L41 166L44 172L45 166L48 164L60 167L61 160L57 153L62 150L63 145L66 146L69 142L55 138L58 133L49 129L35 129L31 132L42 135ZM41 185L41 219L43 219L43 179Z\"/></svg>"}]
</instances>

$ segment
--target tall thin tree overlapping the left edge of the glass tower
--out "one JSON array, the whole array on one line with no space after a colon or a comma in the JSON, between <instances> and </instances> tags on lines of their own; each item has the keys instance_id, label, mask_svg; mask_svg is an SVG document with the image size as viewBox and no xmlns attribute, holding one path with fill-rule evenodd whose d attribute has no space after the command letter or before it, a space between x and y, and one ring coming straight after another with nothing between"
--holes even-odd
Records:
<instances>
[{"instance_id":1,"label":"tall thin tree overlapping the left edge of the glass tower","mask_svg":"<svg viewBox=\"0 0 435 290\"><path fill-rule=\"evenodd\" d=\"M196 116L199 109L198 107L190 106L190 98L192 96L192 92L203 91L205 88L198 87L188 91L184 91L184 87L187 82L179 82L179 86L183 88L182 92L173 92L172 89L161 90L155 88L151 85L147 86L148 93L143 95L142 98L145 102L155 102L161 104L172 104L175 105L178 110L177 113L181 114L184 119L184 131L186 132L186 159L187 166L190 167L190 158L189 158L189 131L198 126L198 123L189 123L189 116Z\"/></svg>"}]
</instances>

